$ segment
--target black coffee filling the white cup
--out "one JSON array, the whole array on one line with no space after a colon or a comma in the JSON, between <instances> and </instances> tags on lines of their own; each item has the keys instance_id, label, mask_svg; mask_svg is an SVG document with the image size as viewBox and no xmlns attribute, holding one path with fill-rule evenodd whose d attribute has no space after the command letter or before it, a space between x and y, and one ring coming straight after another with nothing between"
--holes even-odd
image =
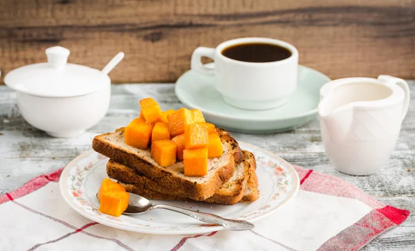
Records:
<instances>
[{"instance_id":1,"label":"black coffee filling the white cup","mask_svg":"<svg viewBox=\"0 0 415 251\"><path fill-rule=\"evenodd\" d=\"M292 53L287 48L275 44L250 43L224 48L222 55L243 62L266 63L287 59Z\"/></svg>"}]
</instances>

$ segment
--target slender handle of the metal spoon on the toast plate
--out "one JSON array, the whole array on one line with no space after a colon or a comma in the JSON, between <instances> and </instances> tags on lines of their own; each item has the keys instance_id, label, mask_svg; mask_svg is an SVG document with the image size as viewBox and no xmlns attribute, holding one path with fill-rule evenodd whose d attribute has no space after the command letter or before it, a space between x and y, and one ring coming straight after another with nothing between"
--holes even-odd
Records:
<instances>
[{"instance_id":1,"label":"slender handle of the metal spoon on the toast plate","mask_svg":"<svg viewBox=\"0 0 415 251\"><path fill-rule=\"evenodd\" d=\"M225 219L221 216L217 216L216 214L209 214L204 212L196 212L193 210L186 210L181 207L174 207L172 205L163 205L158 204L151 207L151 209L156 208L163 208L165 210L171 210L174 212L179 212L181 214L186 214L187 216L193 217L196 220L203 221L206 223L213 223L218 225L223 225L228 230L234 231L242 231L242 230L250 230L254 227L254 225L248 221L241 221L241 220L231 220Z\"/></svg>"}]
</instances>

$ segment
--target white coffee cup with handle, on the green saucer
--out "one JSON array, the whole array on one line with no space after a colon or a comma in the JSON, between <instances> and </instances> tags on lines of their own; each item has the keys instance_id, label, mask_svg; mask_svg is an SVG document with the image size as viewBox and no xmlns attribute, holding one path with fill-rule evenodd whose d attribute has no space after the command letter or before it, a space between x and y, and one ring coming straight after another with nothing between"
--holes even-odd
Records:
<instances>
[{"instance_id":1,"label":"white coffee cup with handle, on the green saucer","mask_svg":"<svg viewBox=\"0 0 415 251\"><path fill-rule=\"evenodd\" d=\"M242 62L225 57L225 48L237 44L275 44L290 50L291 56L274 62ZM214 60L214 68L201 57ZM297 87L297 49L284 41L261 37L232 39L216 48L199 47L192 55L192 70L214 76L216 90L226 103L243 109L273 109L285 104Z\"/></svg>"}]
</instances>

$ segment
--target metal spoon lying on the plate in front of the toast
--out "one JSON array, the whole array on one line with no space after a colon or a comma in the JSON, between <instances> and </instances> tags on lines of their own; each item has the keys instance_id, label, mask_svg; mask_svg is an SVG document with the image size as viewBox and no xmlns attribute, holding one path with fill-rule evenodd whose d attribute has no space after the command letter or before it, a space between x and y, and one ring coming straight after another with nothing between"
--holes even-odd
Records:
<instances>
[{"instance_id":1,"label":"metal spoon lying on the plate in front of the toast","mask_svg":"<svg viewBox=\"0 0 415 251\"><path fill-rule=\"evenodd\" d=\"M147 198L144 198L137 194L131 194L131 193L129 194L130 194L129 205L127 207L127 210L125 210L122 214L144 214L145 212L149 212L150 210L161 208L165 210L179 212L181 214L185 214L196 220L203 221L206 223L223 225L223 227L225 227L228 230L242 231L242 230L250 230L254 227L254 225L248 221L225 219L225 218L222 218L221 216L217 216L216 214L209 214L209 213L204 213L204 212L196 212L193 210L186 210L184 208L174 207L172 205L164 205L164 204L153 205L151 201L147 200Z\"/></svg>"}]
</instances>

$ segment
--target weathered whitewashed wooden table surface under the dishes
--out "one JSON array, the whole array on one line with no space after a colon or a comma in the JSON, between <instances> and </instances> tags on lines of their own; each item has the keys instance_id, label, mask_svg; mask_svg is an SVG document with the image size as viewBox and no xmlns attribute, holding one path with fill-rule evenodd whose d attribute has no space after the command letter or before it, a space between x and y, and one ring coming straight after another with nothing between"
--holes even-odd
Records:
<instances>
[{"instance_id":1,"label":"weathered whitewashed wooden table surface under the dishes","mask_svg":"<svg viewBox=\"0 0 415 251\"><path fill-rule=\"evenodd\" d=\"M410 83L415 93L415 81ZM111 107L95 127L77 138L50 138L27 124L17 109L16 93L0 86L0 194L20 187L31 178L64 167L82 152L91 149L95 135L125 126L138 116L138 100L154 97L162 109L182 106L173 84L121 84L112 87ZM412 212L394 230L375 239L364 250L415 250L415 95L402 125L396 149L377 174L340 174L324 154L320 127L315 120L285 133L250 135L232 133L237 140L273 151L289 162L337 176L356 185L382 203ZM369 158L369 156L368 156Z\"/></svg>"}]
</instances>

